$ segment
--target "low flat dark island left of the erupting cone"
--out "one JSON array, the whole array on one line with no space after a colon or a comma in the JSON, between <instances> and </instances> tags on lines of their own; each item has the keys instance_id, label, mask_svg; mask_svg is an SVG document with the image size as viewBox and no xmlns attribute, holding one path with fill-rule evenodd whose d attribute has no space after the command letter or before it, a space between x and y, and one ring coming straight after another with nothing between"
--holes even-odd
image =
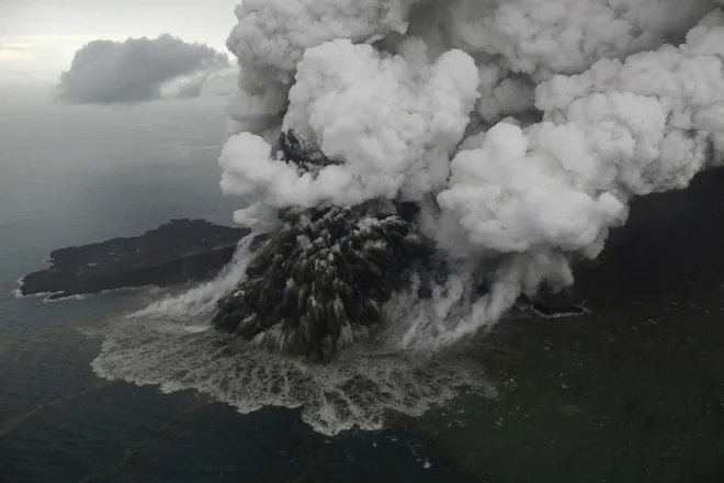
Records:
<instances>
[{"instance_id":1,"label":"low flat dark island left of the erupting cone","mask_svg":"<svg viewBox=\"0 0 724 483\"><path fill-rule=\"evenodd\" d=\"M132 238L50 252L50 267L26 276L23 295L50 299L131 287L168 287L215 276L249 231L203 220L172 220Z\"/></svg>"}]
</instances>

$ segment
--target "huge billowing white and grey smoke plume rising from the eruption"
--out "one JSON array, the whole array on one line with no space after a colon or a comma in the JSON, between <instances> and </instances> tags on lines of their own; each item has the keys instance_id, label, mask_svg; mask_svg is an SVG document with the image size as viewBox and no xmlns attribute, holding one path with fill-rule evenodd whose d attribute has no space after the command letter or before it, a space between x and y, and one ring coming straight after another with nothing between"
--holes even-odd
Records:
<instances>
[{"instance_id":1,"label":"huge billowing white and grey smoke plume rising from the eruption","mask_svg":"<svg viewBox=\"0 0 724 483\"><path fill-rule=\"evenodd\" d=\"M721 4L245 0L222 188L268 229L287 209L415 203L449 277L399 293L392 332L454 341L570 285L634 195L721 162ZM329 162L278 153L290 132Z\"/></svg>"}]
</instances>

